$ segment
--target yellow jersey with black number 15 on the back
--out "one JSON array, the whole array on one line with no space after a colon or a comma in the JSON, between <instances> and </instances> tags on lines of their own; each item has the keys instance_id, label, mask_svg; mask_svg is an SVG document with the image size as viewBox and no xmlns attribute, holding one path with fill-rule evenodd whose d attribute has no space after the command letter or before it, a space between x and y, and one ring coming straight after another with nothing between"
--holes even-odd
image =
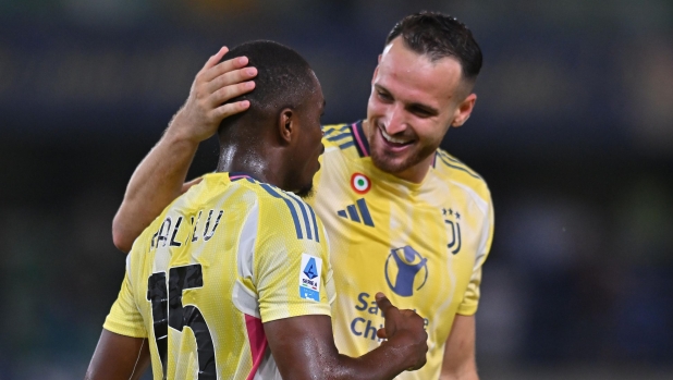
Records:
<instances>
[{"instance_id":1,"label":"yellow jersey with black number 15 on the back","mask_svg":"<svg viewBox=\"0 0 673 380\"><path fill-rule=\"evenodd\" d=\"M215 173L135 241L103 327L148 338L155 379L280 379L262 323L330 315L325 228L294 194Z\"/></svg>"}]
</instances>

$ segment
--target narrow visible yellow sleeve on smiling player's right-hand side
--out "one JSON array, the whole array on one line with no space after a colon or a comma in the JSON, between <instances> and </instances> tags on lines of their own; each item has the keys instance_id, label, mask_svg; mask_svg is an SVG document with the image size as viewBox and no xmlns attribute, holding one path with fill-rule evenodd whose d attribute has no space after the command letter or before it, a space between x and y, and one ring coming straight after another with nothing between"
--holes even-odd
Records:
<instances>
[{"instance_id":1,"label":"narrow visible yellow sleeve on smiling player's right-hand side","mask_svg":"<svg viewBox=\"0 0 673 380\"><path fill-rule=\"evenodd\" d=\"M488 254L491 249L491 242L493 241L493 204L490 200L488 204L488 211L485 218L482 234L481 234L481 244L479 244L479 249L477 252L477 256L475 259L475 267L473 269L472 277L469 279L469 283L467 284L467 290L463 296L463 302L458 305L457 314L462 316L472 316L477 312L477 307L479 305L479 286L481 284L481 267L488 257Z\"/></svg>"}]
</instances>

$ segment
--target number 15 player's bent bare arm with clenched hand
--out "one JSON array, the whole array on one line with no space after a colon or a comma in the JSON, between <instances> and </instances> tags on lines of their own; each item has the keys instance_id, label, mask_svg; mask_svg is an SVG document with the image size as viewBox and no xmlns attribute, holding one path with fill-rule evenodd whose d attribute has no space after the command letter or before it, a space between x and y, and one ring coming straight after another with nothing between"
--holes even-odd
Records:
<instances>
[{"instance_id":1,"label":"number 15 player's bent bare arm with clenched hand","mask_svg":"<svg viewBox=\"0 0 673 380\"><path fill-rule=\"evenodd\" d=\"M271 354L283 379L392 379L426 363L428 334L413 310L400 310L377 294L386 326L379 347L353 358L339 354L328 316L303 316L265 323Z\"/></svg>"}]
</instances>

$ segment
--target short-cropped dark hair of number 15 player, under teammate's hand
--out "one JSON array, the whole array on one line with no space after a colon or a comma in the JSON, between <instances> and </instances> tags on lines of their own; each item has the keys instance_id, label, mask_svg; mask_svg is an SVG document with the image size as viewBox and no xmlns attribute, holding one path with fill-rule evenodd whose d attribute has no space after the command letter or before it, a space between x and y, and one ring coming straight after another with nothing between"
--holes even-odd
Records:
<instances>
[{"instance_id":1,"label":"short-cropped dark hair of number 15 player, under teammate's hand","mask_svg":"<svg viewBox=\"0 0 673 380\"><path fill-rule=\"evenodd\" d=\"M247 57L248 66L257 69L255 89L229 102L249 100L250 107L245 112L225 118L220 123L220 131L245 114L270 117L284 108L297 108L316 87L310 65L292 48L274 41L255 40L231 49L222 61L243 56Z\"/></svg>"}]
</instances>

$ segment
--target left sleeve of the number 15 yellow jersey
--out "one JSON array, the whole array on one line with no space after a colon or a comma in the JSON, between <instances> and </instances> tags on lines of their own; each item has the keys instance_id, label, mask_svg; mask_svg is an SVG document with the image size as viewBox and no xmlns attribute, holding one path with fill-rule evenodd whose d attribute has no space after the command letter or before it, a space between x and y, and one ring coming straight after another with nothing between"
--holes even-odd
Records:
<instances>
[{"instance_id":1,"label":"left sleeve of the number 15 yellow jersey","mask_svg":"<svg viewBox=\"0 0 673 380\"><path fill-rule=\"evenodd\" d=\"M102 324L103 329L120 335L147 338L143 316L140 315L129 281L129 272L124 275L122 290Z\"/></svg>"}]
</instances>

